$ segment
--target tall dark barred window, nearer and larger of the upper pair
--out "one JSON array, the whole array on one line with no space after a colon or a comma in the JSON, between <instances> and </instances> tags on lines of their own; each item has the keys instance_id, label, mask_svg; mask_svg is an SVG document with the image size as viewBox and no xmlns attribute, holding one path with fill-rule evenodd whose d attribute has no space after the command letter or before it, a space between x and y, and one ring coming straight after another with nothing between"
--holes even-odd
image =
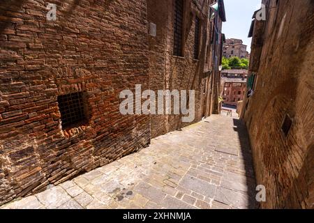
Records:
<instances>
[{"instance_id":1,"label":"tall dark barred window, nearer and larger of the upper pair","mask_svg":"<svg viewBox=\"0 0 314 223\"><path fill-rule=\"evenodd\" d=\"M174 0L174 56L183 56L184 0Z\"/></svg>"}]
</instances>

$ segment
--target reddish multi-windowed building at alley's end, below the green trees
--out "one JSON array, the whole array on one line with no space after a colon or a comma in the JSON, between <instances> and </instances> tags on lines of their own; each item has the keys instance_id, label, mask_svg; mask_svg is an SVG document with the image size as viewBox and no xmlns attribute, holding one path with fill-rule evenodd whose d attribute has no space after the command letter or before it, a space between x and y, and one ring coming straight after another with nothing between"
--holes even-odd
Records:
<instances>
[{"instance_id":1,"label":"reddish multi-windowed building at alley's end, below the green trees","mask_svg":"<svg viewBox=\"0 0 314 223\"><path fill-rule=\"evenodd\" d=\"M244 100L248 70L221 71L221 89L223 89L223 104L237 105Z\"/></svg>"}]
</instances>

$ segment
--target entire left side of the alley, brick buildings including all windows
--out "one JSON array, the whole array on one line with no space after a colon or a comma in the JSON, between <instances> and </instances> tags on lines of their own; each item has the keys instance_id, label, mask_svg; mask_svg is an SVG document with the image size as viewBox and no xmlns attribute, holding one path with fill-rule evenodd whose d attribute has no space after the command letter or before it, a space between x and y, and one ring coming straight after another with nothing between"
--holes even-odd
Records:
<instances>
[{"instance_id":1,"label":"entire left side of the alley, brick buildings including all windows","mask_svg":"<svg viewBox=\"0 0 314 223\"><path fill-rule=\"evenodd\" d=\"M47 20L45 1L1 2L0 205L189 124L122 115L119 95L136 84L195 89L193 122L212 114L225 21L218 2L214 21L214 1L56 0L57 21Z\"/></svg>"}]
</instances>

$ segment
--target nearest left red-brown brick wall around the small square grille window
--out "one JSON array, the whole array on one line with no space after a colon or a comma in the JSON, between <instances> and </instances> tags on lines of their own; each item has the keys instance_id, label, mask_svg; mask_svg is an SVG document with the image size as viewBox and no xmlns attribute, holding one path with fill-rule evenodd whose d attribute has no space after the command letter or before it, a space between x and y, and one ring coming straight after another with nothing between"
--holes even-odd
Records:
<instances>
[{"instance_id":1,"label":"nearest left red-brown brick wall around the small square grille window","mask_svg":"<svg viewBox=\"0 0 314 223\"><path fill-rule=\"evenodd\" d=\"M149 116L122 116L119 93L149 87L147 2L0 3L0 205L149 144ZM84 91L89 123L63 131L57 95Z\"/></svg>"}]
</instances>

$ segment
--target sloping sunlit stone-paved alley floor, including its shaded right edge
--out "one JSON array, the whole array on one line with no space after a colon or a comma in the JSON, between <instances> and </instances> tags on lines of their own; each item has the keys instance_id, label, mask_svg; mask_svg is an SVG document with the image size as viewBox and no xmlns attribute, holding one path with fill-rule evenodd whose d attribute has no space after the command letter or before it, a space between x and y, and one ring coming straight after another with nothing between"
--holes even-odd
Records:
<instances>
[{"instance_id":1,"label":"sloping sunlit stone-paved alley floor, including its shaded right edge","mask_svg":"<svg viewBox=\"0 0 314 223\"><path fill-rule=\"evenodd\" d=\"M255 208L255 193L246 128L214 115L2 208Z\"/></svg>"}]
</instances>

